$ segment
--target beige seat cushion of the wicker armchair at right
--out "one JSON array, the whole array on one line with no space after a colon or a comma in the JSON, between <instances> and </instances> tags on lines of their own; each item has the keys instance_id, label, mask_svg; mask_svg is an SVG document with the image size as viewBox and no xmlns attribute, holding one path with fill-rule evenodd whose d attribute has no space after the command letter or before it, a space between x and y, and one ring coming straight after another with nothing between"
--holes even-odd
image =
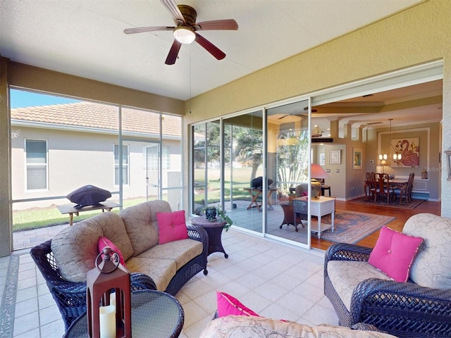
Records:
<instances>
[{"instance_id":1,"label":"beige seat cushion of the wicker armchair at right","mask_svg":"<svg viewBox=\"0 0 451 338\"><path fill-rule=\"evenodd\" d=\"M380 278L381 280L391 280L385 273L366 262L329 261L327 263L327 273L333 288L345 304L347 311L350 311L352 292L354 292L359 282L372 277Z\"/></svg>"}]
</instances>

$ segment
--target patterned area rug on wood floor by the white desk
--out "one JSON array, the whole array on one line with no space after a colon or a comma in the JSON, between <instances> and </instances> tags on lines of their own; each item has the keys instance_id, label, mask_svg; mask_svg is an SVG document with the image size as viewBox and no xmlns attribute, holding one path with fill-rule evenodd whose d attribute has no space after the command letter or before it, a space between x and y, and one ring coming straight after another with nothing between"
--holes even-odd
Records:
<instances>
[{"instance_id":1,"label":"patterned area rug on wood floor by the white desk","mask_svg":"<svg viewBox=\"0 0 451 338\"><path fill-rule=\"evenodd\" d=\"M373 213L337 210L335 211L334 231L328 229L321 232L321 239L336 243L356 244L394 219L395 217ZM331 223L330 215L321 218L321 224L323 223ZM311 235L315 236L313 232Z\"/></svg>"}]
</instances>

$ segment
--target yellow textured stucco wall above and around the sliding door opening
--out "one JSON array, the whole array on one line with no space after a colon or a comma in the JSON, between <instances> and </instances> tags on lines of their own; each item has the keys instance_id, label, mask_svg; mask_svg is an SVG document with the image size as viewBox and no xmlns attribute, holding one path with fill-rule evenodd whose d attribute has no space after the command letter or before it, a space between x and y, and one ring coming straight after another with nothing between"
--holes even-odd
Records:
<instances>
[{"instance_id":1,"label":"yellow textured stucco wall above and around the sliding door opening","mask_svg":"<svg viewBox=\"0 0 451 338\"><path fill-rule=\"evenodd\" d=\"M184 119L184 149L188 147L192 123L435 60L444 61L443 149L450 149L450 13L451 1L426 1L194 97L185 105L185 111L191 113L186 113ZM187 184L187 164L183 171ZM446 175L443 166L442 182L446 183ZM185 192L187 200L188 189ZM442 205L451 203L451 187L447 184L443 184L441 199ZM442 214L451 216L451 211L442 208Z\"/></svg>"}]
</instances>

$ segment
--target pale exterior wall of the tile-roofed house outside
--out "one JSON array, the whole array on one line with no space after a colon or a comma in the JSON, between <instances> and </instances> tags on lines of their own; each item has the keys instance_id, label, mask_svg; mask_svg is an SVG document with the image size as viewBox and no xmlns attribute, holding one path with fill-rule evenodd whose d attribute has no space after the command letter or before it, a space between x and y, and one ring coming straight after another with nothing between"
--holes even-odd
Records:
<instances>
[{"instance_id":1,"label":"pale exterior wall of the tile-roofed house outside","mask_svg":"<svg viewBox=\"0 0 451 338\"><path fill-rule=\"evenodd\" d=\"M114 144L118 144L117 135L14 126L12 129L19 131L18 137L11 142L13 200L66 196L87 184L110 192L119 191L114 184ZM26 190L25 139L47 139L47 190ZM145 197L143 149L147 143L124 141L123 144L128 144L130 161L129 184L123 186L124 199ZM171 146L170 170L180 172L180 142L165 140L164 144ZM156 175L156 170L152 175ZM168 184L165 177L167 175L163 175L163 187ZM118 194L111 197L112 200L118 198ZM20 202L13 204L13 210L68 203L65 198Z\"/></svg>"}]
</instances>

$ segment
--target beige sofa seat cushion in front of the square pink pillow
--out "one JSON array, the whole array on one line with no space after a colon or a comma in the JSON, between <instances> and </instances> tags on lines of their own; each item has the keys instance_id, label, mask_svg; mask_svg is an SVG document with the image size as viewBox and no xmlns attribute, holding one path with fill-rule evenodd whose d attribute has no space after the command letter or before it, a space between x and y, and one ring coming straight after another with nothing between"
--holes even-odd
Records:
<instances>
[{"instance_id":1,"label":"beige sofa seat cushion in front of the square pink pillow","mask_svg":"<svg viewBox=\"0 0 451 338\"><path fill-rule=\"evenodd\" d=\"M192 258L199 256L203 249L204 247L199 241L182 239L180 241L158 244L137 257L171 259L175 261L178 270L191 261Z\"/></svg>"}]
</instances>

